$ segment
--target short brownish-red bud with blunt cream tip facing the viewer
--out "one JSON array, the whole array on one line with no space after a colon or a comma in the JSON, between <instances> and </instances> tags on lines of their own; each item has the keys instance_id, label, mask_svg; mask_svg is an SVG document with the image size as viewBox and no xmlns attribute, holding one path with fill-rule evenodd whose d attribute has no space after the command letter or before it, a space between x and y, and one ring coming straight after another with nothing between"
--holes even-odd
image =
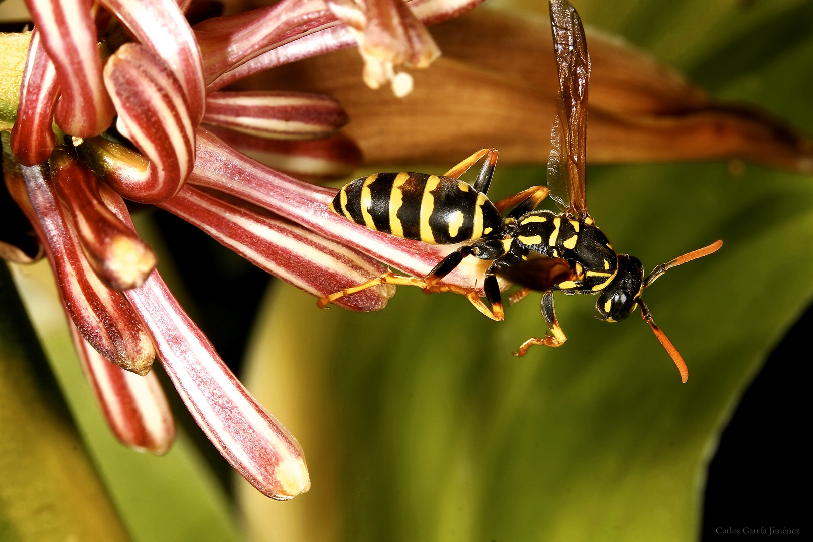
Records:
<instances>
[{"instance_id":1,"label":"short brownish-red bud with blunt cream tip facing the viewer","mask_svg":"<svg viewBox=\"0 0 813 542\"><path fill-rule=\"evenodd\" d=\"M155 267L155 254L107 209L93 171L59 149L51 155L50 167L51 180L71 213L93 271L114 290L144 284Z\"/></svg>"}]
</instances>

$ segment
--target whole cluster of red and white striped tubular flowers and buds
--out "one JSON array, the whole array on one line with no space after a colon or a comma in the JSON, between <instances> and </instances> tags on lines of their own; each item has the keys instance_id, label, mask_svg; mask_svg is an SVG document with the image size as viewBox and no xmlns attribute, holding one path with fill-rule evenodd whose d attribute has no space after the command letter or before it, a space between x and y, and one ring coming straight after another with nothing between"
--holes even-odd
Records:
<instances>
[{"instance_id":1,"label":"whole cluster of red and white striped tubular flowers and buds","mask_svg":"<svg viewBox=\"0 0 813 542\"><path fill-rule=\"evenodd\" d=\"M28 51L17 72L2 67L20 93L0 103L0 205L10 217L0 255L48 258L85 375L124 444L152 453L172 444L172 415L150 374L157 356L203 431L255 488L280 500L307 491L299 444L172 297L123 197L180 216L319 297L381 275L380 261L428 271L443 249L341 220L327 209L335 190L283 172L321 179L360 163L359 148L338 132L347 122L339 102L219 90L358 43L364 80L392 80L403 94L408 76L395 67L425 67L438 54L424 23L479 2L282 0L192 27L189 2L28 0L34 31L0 35ZM461 267L447 280L475 284L476 271ZM381 285L337 304L379 310L392 293Z\"/></svg>"}]
</instances>

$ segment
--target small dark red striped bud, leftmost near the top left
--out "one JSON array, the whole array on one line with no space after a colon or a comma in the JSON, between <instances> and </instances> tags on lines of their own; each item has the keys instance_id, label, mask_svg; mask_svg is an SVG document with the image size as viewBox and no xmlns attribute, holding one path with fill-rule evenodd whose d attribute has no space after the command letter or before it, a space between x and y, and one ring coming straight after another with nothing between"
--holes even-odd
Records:
<instances>
[{"instance_id":1,"label":"small dark red striped bud, leftmost near the top left","mask_svg":"<svg viewBox=\"0 0 813 542\"><path fill-rule=\"evenodd\" d=\"M45 162L54 150L54 109L59 98L59 82L54 63L34 29L28 45L17 119L11 128L11 151L24 166Z\"/></svg>"}]
</instances>

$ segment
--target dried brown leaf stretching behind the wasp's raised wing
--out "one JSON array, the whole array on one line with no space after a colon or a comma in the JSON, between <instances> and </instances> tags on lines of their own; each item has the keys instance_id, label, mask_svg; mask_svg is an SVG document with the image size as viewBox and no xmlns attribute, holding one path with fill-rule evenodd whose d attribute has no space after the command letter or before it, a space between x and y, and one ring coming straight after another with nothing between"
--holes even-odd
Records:
<instances>
[{"instance_id":1,"label":"dried brown leaf stretching behind the wasp's raised wing","mask_svg":"<svg viewBox=\"0 0 813 542\"><path fill-rule=\"evenodd\" d=\"M497 147L501 163L544 163L557 89L546 21L480 9L431 31L443 56L413 74L407 98L367 89L354 51L237 85L332 94L350 115L345 131L369 164L450 163L483 147ZM588 44L590 163L741 158L813 172L813 141L789 124L750 106L711 101L679 72L617 37L588 31Z\"/></svg>"}]
</instances>

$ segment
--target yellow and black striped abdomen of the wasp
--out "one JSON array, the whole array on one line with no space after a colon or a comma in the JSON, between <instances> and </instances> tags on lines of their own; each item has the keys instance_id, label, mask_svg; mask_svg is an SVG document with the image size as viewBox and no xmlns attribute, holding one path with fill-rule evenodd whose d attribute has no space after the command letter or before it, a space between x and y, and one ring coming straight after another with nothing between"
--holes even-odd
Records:
<instances>
[{"instance_id":1,"label":"yellow and black striped abdomen of the wasp","mask_svg":"<svg viewBox=\"0 0 813 542\"><path fill-rule=\"evenodd\" d=\"M402 171L346 184L330 210L378 232L431 245L496 234L502 219L485 194L451 177Z\"/></svg>"}]
</instances>

